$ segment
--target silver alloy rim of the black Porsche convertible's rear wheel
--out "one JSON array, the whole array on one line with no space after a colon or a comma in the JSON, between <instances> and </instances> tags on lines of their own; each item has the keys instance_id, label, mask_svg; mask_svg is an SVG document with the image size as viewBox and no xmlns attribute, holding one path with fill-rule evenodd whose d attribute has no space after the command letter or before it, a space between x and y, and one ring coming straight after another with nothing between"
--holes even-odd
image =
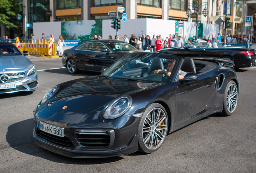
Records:
<instances>
[{"instance_id":1,"label":"silver alloy rim of the black Porsche convertible's rear wheel","mask_svg":"<svg viewBox=\"0 0 256 173\"><path fill-rule=\"evenodd\" d=\"M236 105L237 105L237 87L235 84L231 84L229 86L229 89L227 91L227 110L230 113L233 113L235 111Z\"/></svg>"}]
</instances>

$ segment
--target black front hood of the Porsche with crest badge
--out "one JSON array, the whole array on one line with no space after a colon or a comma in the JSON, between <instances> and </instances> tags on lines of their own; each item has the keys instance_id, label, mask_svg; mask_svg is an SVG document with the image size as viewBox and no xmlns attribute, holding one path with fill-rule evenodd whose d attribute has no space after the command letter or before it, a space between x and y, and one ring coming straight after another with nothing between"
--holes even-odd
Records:
<instances>
[{"instance_id":1,"label":"black front hood of the Porsche with crest badge","mask_svg":"<svg viewBox=\"0 0 256 173\"><path fill-rule=\"evenodd\" d=\"M82 78L60 91L50 101L48 108L63 114L85 115L100 107L107 106L117 97L153 84L140 81L107 79L99 76Z\"/></svg>"}]
</instances>

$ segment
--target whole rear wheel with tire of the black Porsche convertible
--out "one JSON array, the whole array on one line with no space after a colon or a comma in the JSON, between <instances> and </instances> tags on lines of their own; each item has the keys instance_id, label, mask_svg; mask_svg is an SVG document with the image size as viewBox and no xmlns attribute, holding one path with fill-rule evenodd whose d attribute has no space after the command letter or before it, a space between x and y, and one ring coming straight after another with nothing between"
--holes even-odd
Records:
<instances>
[{"instance_id":1,"label":"whole rear wheel with tire of the black Porsche convertible","mask_svg":"<svg viewBox=\"0 0 256 173\"><path fill-rule=\"evenodd\" d=\"M222 115L230 116L234 113L237 107L238 100L238 89L236 83L231 80L227 84L227 88L225 90L225 97L223 101L223 111Z\"/></svg>"}]
</instances>

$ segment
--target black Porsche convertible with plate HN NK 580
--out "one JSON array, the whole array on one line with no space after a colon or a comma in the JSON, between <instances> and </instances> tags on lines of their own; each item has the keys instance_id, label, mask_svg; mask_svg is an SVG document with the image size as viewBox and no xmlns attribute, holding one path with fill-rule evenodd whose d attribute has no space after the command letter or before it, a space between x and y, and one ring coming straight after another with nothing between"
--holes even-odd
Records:
<instances>
[{"instance_id":1,"label":"black Porsche convertible with plate HN NK 580","mask_svg":"<svg viewBox=\"0 0 256 173\"><path fill-rule=\"evenodd\" d=\"M157 151L166 135L213 113L232 115L239 78L219 62L126 54L101 75L58 84L33 111L35 143L76 158Z\"/></svg>"}]
</instances>

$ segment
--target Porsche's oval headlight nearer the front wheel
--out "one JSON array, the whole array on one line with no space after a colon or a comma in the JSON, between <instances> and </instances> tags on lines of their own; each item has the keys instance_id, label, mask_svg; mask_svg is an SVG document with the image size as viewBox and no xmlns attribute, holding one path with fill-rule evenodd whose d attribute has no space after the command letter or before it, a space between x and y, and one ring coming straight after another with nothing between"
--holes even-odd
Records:
<instances>
[{"instance_id":1,"label":"Porsche's oval headlight nearer the front wheel","mask_svg":"<svg viewBox=\"0 0 256 173\"><path fill-rule=\"evenodd\" d=\"M131 105L129 97L121 97L112 102L104 112L105 119L115 119L123 115Z\"/></svg>"}]
</instances>

